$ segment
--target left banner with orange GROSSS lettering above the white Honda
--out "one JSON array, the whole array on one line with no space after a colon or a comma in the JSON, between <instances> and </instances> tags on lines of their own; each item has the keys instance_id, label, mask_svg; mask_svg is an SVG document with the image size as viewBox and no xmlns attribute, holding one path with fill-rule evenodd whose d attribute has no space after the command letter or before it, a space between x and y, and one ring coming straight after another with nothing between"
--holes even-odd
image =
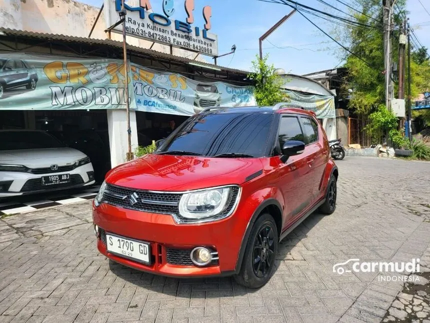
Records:
<instances>
[{"instance_id":1,"label":"left banner with orange GROSSS lettering above the white Honda","mask_svg":"<svg viewBox=\"0 0 430 323\"><path fill-rule=\"evenodd\" d=\"M0 54L0 109L124 109L124 84L119 60Z\"/></svg>"}]
</instances>

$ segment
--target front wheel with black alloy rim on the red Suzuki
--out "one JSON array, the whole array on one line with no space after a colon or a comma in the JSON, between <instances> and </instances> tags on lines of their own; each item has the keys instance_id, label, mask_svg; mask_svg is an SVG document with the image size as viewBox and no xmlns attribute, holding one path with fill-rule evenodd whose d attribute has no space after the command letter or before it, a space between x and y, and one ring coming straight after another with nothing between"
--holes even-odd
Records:
<instances>
[{"instance_id":1,"label":"front wheel with black alloy rim on the red Suzuki","mask_svg":"<svg viewBox=\"0 0 430 323\"><path fill-rule=\"evenodd\" d=\"M276 223L268 213L263 213L252 226L243 254L239 273L234 280L248 288L259 288L270 279L273 272L278 234ZM256 261L260 259L259 261Z\"/></svg>"}]
</instances>

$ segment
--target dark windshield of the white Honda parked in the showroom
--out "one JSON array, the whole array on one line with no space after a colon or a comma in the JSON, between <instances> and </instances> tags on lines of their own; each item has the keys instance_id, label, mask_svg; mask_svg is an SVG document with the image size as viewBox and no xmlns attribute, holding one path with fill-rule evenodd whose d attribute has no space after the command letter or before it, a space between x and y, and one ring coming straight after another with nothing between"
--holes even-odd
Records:
<instances>
[{"instance_id":1,"label":"dark windshield of the white Honda parked in the showroom","mask_svg":"<svg viewBox=\"0 0 430 323\"><path fill-rule=\"evenodd\" d=\"M0 150L60 147L64 145L42 131L0 131Z\"/></svg>"}]
</instances>

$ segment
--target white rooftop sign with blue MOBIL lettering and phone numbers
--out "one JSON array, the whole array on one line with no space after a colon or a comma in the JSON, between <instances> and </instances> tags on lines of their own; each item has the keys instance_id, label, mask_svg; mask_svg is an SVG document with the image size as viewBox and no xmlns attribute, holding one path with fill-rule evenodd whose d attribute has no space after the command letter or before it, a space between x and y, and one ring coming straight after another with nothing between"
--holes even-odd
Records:
<instances>
[{"instance_id":1,"label":"white rooftop sign with blue MOBIL lettering and phone numbers","mask_svg":"<svg viewBox=\"0 0 430 323\"><path fill-rule=\"evenodd\" d=\"M118 21L122 9L121 1L104 0L106 28L110 28ZM205 6L202 9L204 26L193 26L194 0L184 2L185 21L170 19L176 11L174 7L173 0L162 0L163 14L161 14L152 11L149 0L140 0L137 6L124 4L126 34L208 56L217 56L217 35L208 32L211 28L211 7ZM114 27L111 31L122 33L122 25Z\"/></svg>"}]
</instances>

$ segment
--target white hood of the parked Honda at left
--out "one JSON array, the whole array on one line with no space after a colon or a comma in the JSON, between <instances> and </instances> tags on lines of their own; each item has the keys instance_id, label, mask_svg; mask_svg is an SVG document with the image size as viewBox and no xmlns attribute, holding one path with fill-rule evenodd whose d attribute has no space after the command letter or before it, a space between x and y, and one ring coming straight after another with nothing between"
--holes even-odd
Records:
<instances>
[{"instance_id":1,"label":"white hood of the parked Honda at left","mask_svg":"<svg viewBox=\"0 0 430 323\"><path fill-rule=\"evenodd\" d=\"M0 150L0 164L24 165L28 168L49 167L52 164L71 165L86 155L73 148L43 148Z\"/></svg>"}]
</instances>

